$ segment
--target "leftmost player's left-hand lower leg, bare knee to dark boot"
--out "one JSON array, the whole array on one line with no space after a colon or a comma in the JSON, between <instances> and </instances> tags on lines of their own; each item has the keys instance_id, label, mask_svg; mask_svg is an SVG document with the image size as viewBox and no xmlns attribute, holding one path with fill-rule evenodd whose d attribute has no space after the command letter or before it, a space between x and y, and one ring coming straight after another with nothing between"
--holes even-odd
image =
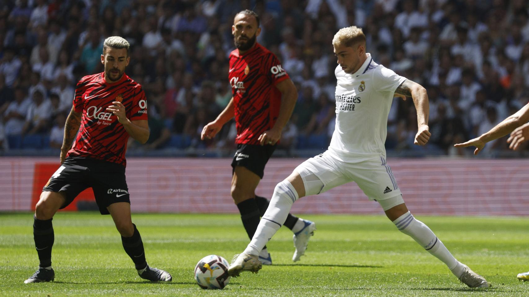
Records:
<instances>
[{"instance_id":1,"label":"leftmost player's left-hand lower leg, bare knee to dark boot","mask_svg":"<svg viewBox=\"0 0 529 297\"><path fill-rule=\"evenodd\" d=\"M35 250L39 255L39 269L24 281L26 284L49 282L55 279L55 272L51 268L51 248L55 239L51 221L65 202L65 194L60 192L43 191L40 194L33 217L33 239Z\"/></svg>"}]
</instances>

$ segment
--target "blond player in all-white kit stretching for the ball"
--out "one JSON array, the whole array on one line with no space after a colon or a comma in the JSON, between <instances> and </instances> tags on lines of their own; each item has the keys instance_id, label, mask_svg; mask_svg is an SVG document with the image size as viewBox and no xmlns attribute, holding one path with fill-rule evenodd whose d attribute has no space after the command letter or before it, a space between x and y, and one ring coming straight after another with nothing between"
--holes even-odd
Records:
<instances>
[{"instance_id":1,"label":"blond player in all-white kit stretching for the ball","mask_svg":"<svg viewBox=\"0 0 529 297\"><path fill-rule=\"evenodd\" d=\"M331 145L323 154L303 162L276 186L256 234L246 250L234 258L228 273L238 276L242 271L261 269L259 251L285 222L297 199L354 181L370 200L380 204L400 232L439 258L459 280L471 288L487 287L482 276L455 260L431 229L409 212L386 162L384 142L394 93L413 99L418 124L415 144L423 146L430 139L426 90L375 63L366 52L366 36L361 28L342 28L332 43L339 65L334 71L338 83Z\"/></svg>"}]
</instances>

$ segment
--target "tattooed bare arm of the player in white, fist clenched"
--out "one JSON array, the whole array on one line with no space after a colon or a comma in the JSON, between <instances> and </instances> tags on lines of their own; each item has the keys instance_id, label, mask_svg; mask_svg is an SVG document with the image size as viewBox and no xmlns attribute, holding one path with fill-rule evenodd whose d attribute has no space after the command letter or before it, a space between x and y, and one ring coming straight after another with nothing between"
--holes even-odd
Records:
<instances>
[{"instance_id":1,"label":"tattooed bare arm of the player in white, fist clenched","mask_svg":"<svg viewBox=\"0 0 529 297\"><path fill-rule=\"evenodd\" d=\"M430 127L428 127L428 117L430 116L430 103L428 103L428 94L424 87L414 81L405 80L401 83L395 93L412 97L413 104L417 110L417 127L414 143L424 146L430 140Z\"/></svg>"}]
</instances>

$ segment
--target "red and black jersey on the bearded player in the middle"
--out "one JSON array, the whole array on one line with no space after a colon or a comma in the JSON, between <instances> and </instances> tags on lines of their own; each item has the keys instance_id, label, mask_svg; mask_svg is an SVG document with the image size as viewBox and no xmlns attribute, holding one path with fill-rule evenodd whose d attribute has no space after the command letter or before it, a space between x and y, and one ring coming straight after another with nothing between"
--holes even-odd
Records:
<instances>
[{"instance_id":1,"label":"red and black jersey on the bearded player in the middle","mask_svg":"<svg viewBox=\"0 0 529 297\"><path fill-rule=\"evenodd\" d=\"M279 116L281 92L276 84L289 79L276 55L256 43L248 52L230 53L230 85L235 106L235 143L258 145L259 136Z\"/></svg>"}]
</instances>

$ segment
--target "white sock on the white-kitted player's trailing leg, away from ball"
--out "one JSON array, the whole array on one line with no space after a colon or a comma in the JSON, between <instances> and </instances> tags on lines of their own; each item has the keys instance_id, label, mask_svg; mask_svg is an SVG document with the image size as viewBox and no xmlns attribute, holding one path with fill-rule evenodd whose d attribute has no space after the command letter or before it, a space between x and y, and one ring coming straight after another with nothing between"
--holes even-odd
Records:
<instances>
[{"instance_id":1,"label":"white sock on the white-kitted player's trailing leg, away from ball","mask_svg":"<svg viewBox=\"0 0 529 297\"><path fill-rule=\"evenodd\" d=\"M454 256L452 256L452 254L446 249L444 244L437 238L437 236L435 236L432 230L424 225L423 222L415 219L410 212L397 218L393 221L393 224L397 226L400 232L412 237L418 244L424 247L428 253L434 255L446 264L448 269L451 271L455 270L455 272L452 271L454 274L459 272L457 269L459 262L455 260ZM461 274L456 274L455 276L459 277Z\"/></svg>"}]
</instances>

